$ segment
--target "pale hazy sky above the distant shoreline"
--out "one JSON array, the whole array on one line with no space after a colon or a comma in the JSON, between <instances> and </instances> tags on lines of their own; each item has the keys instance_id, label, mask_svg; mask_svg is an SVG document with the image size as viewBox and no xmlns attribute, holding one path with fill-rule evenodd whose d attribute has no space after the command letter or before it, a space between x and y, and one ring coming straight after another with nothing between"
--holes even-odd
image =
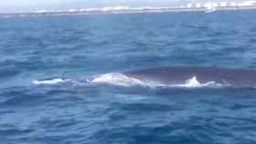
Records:
<instances>
[{"instance_id":1,"label":"pale hazy sky above the distant shoreline","mask_svg":"<svg viewBox=\"0 0 256 144\"><path fill-rule=\"evenodd\" d=\"M203 2L209 0L0 0L0 13L20 13L37 10L67 10L105 6L175 5L177 3ZM213 1L213 0L212 0ZM214 0L215 2L220 0ZM230 0L225 0L230 1ZM237 0L239 1L239 0ZM240 0L242 1L242 0Z\"/></svg>"}]
</instances>

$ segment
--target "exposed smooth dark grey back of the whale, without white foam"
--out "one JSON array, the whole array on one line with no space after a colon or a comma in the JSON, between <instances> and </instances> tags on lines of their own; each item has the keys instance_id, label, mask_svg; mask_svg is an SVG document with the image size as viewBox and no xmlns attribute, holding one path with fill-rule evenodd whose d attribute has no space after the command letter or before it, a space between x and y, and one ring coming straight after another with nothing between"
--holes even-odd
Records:
<instances>
[{"instance_id":1,"label":"exposed smooth dark grey back of the whale, without white foam","mask_svg":"<svg viewBox=\"0 0 256 144\"><path fill-rule=\"evenodd\" d=\"M165 85L182 85L187 79L197 77L199 83L216 83L229 87L256 87L255 69L231 69L220 67L150 67L123 73L144 81Z\"/></svg>"}]
</instances>

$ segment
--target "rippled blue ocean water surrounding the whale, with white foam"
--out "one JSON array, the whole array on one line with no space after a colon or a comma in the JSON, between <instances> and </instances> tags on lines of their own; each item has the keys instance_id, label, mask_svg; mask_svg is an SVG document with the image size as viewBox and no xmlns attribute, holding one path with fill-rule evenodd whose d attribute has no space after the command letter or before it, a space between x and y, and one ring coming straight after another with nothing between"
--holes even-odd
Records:
<instances>
[{"instance_id":1,"label":"rippled blue ocean water surrounding the whale, with white foam","mask_svg":"<svg viewBox=\"0 0 256 144\"><path fill-rule=\"evenodd\" d=\"M0 143L256 143L255 88L161 87L121 74L256 68L255 14L0 19Z\"/></svg>"}]
</instances>

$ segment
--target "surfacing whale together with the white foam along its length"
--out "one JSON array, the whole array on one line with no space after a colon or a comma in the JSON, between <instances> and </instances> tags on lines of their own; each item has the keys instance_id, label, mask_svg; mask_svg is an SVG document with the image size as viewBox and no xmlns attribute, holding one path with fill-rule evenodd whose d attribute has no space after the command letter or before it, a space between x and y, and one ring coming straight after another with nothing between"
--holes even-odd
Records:
<instances>
[{"instance_id":1,"label":"surfacing whale together with the white foam along its length","mask_svg":"<svg viewBox=\"0 0 256 144\"><path fill-rule=\"evenodd\" d=\"M224 67L147 67L82 79L34 80L34 85L92 84L122 87L256 87L256 69ZM95 85L96 84L96 85Z\"/></svg>"}]
</instances>

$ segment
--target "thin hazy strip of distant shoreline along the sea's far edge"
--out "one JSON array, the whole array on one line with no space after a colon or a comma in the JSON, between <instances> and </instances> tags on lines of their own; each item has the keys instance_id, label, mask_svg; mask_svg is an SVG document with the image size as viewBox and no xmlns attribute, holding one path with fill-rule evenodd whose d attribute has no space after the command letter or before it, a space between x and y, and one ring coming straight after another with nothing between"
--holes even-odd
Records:
<instances>
[{"instance_id":1,"label":"thin hazy strip of distant shoreline along the sea's far edge","mask_svg":"<svg viewBox=\"0 0 256 144\"><path fill-rule=\"evenodd\" d=\"M229 11L229 10L256 10L256 5L253 6L226 6L216 7L216 11ZM170 12L206 12L206 7L192 7L192 8L161 8L161 9L142 9L142 10L109 10L109 11L63 11L63 12L45 12L45 13L10 13L1 14L0 18L11 18L11 17L34 17L34 16L59 16L59 15L121 15L121 14L146 14L146 13L170 13Z\"/></svg>"}]
</instances>

